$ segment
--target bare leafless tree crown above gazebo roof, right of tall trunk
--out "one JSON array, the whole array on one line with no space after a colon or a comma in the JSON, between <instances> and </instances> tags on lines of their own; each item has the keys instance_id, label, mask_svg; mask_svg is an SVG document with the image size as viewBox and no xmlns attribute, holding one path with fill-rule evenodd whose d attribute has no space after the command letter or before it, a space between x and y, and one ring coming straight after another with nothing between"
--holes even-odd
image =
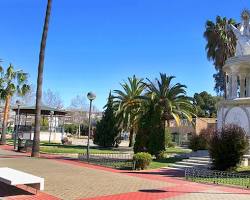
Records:
<instances>
[{"instance_id":1,"label":"bare leafless tree crown above gazebo roof, right of tall trunk","mask_svg":"<svg viewBox=\"0 0 250 200\"><path fill-rule=\"evenodd\" d=\"M60 94L58 92L53 92L51 89L43 93L43 103L53 108L63 108L63 101Z\"/></svg>"}]
</instances>

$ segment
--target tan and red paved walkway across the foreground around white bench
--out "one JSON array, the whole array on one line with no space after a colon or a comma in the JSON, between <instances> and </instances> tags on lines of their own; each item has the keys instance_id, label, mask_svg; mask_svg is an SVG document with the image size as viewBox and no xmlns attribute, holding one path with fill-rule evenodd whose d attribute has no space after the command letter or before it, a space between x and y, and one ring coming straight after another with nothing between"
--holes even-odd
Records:
<instances>
[{"instance_id":1,"label":"tan and red paved walkway across the foreground around white bench","mask_svg":"<svg viewBox=\"0 0 250 200\"><path fill-rule=\"evenodd\" d=\"M25 186L0 184L0 199L4 200L250 199L250 190L188 182L178 178L179 174L173 170L120 171L52 155L30 158L9 151L8 146L0 148L0 167L45 178L45 191L38 194Z\"/></svg>"}]
</instances>

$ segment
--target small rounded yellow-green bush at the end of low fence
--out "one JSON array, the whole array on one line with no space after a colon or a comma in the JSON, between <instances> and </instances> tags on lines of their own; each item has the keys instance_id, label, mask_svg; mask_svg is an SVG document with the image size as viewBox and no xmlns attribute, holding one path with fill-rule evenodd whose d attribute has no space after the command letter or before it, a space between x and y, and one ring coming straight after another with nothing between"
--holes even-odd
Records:
<instances>
[{"instance_id":1,"label":"small rounded yellow-green bush at the end of low fence","mask_svg":"<svg viewBox=\"0 0 250 200\"><path fill-rule=\"evenodd\" d=\"M133 156L133 160L135 162L135 169L146 169L152 161L152 156L149 153L139 152Z\"/></svg>"}]
</instances>

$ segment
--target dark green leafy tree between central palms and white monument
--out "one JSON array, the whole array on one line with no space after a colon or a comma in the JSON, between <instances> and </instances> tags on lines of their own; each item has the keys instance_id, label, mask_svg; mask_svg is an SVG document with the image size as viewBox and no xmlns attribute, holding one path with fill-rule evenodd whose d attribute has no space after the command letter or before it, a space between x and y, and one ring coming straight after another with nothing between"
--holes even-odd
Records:
<instances>
[{"instance_id":1,"label":"dark green leafy tree between central palms and white monument","mask_svg":"<svg viewBox=\"0 0 250 200\"><path fill-rule=\"evenodd\" d=\"M214 97L206 91L194 94L194 105L197 108L198 117L216 117L216 104L220 97Z\"/></svg>"}]
</instances>

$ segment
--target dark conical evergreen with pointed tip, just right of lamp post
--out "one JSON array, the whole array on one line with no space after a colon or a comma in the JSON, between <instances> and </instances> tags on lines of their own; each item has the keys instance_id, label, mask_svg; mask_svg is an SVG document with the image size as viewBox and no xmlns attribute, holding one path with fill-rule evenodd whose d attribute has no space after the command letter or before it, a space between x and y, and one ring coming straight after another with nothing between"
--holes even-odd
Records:
<instances>
[{"instance_id":1,"label":"dark conical evergreen with pointed tip, just right of lamp post","mask_svg":"<svg viewBox=\"0 0 250 200\"><path fill-rule=\"evenodd\" d=\"M101 121L97 122L96 131L94 134L94 143L103 146L111 147L119 144L120 130L117 124L117 117L113 108L113 99L111 93L108 97L106 110Z\"/></svg>"}]
</instances>

